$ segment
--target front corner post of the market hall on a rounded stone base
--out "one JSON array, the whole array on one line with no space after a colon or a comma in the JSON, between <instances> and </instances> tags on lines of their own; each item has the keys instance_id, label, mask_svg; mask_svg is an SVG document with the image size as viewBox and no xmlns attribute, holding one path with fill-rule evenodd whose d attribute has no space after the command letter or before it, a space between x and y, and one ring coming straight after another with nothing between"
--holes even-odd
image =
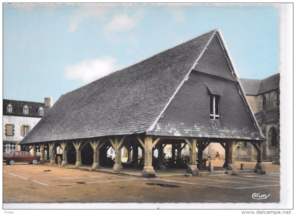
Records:
<instances>
[{"instance_id":1,"label":"front corner post of the market hall on a rounded stone base","mask_svg":"<svg viewBox=\"0 0 296 215\"><path fill-rule=\"evenodd\" d=\"M152 137L145 136L144 140L144 168L142 170L142 177L154 178L155 170L152 166Z\"/></svg>"}]
</instances>

